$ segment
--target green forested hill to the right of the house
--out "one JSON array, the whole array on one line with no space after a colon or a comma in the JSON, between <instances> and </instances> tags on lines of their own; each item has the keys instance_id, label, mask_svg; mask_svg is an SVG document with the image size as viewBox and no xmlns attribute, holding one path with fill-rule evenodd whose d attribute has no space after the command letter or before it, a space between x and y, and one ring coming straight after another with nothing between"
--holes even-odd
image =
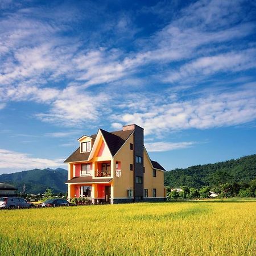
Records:
<instances>
[{"instance_id":1,"label":"green forested hill to the right of the house","mask_svg":"<svg viewBox=\"0 0 256 256\"><path fill-rule=\"evenodd\" d=\"M249 182L256 177L256 155L243 156L226 162L191 166L164 173L164 185L172 188L188 186L201 188L214 187L235 181Z\"/></svg>"}]
</instances>

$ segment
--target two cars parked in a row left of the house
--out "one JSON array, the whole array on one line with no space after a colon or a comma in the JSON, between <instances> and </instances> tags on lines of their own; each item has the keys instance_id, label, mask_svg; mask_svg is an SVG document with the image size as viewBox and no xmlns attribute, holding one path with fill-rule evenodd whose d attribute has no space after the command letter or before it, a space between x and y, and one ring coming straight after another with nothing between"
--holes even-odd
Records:
<instances>
[{"instance_id":1,"label":"two cars parked in a row left of the house","mask_svg":"<svg viewBox=\"0 0 256 256\"><path fill-rule=\"evenodd\" d=\"M48 199L39 207L60 207L60 206L75 206L76 204L69 203L65 199ZM22 197L1 197L0 209L15 209L15 208L34 208L35 205L23 199Z\"/></svg>"}]
</instances>

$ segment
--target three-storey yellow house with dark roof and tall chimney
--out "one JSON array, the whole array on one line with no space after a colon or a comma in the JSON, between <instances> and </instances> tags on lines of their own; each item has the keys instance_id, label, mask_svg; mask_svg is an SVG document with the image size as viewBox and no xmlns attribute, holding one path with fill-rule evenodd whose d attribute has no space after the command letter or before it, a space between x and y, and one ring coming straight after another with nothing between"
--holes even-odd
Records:
<instances>
[{"instance_id":1,"label":"three-storey yellow house with dark roof and tall chimney","mask_svg":"<svg viewBox=\"0 0 256 256\"><path fill-rule=\"evenodd\" d=\"M143 128L99 129L78 139L79 148L67 160L68 198L88 197L93 203L164 201L164 168L144 147Z\"/></svg>"}]
</instances>

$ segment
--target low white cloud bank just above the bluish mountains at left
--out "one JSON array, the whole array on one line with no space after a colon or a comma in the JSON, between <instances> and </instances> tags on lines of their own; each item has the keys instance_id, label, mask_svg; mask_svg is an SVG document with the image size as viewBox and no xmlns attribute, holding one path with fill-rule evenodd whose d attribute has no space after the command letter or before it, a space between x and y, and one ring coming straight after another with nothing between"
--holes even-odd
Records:
<instances>
[{"instance_id":1,"label":"low white cloud bank just above the bluish mountains at left","mask_svg":"<svg viewBox=\"0 0 256 256\"><path fill-rule=\"evenodd\" d=\"M64 159L34 158L29 154L0 149L1 168L30 170L32 168L66 167L63 161Z\"/></svg>"}]
</instances>

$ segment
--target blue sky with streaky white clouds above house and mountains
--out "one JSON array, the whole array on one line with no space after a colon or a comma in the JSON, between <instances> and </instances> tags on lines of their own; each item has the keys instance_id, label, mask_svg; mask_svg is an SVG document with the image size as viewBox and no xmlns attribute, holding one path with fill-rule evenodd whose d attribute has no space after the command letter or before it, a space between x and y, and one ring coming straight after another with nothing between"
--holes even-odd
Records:
<instances>
[{"instance_id":1,"label":"blue sky with streaky white clouds above house and mountains","mask_svg":"<svg viewBox=\"0 0 256 256\"><path fill-rule=\"evenodd\" d=\"M255 154L255 1L0 1L0 174L144 127L167 170Z\"/></svg>"}]
</instances>

